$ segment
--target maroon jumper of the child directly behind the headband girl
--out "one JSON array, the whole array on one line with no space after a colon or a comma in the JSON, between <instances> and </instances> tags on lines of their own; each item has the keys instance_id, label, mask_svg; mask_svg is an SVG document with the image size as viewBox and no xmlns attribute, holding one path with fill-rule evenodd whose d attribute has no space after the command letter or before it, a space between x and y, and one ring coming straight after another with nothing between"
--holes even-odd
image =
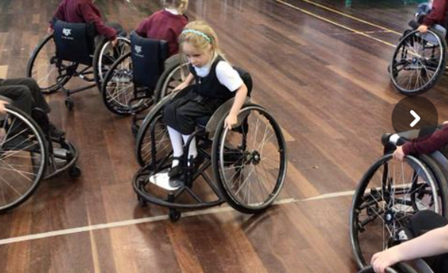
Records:
<instances>
[{"instance_id":1,"label":"maroon jumper of the child directly behind the headband girl","mask_svg":"<svg viewBox=\"0 0 448 273\"><path fill-rule=\"evenodd\" d=\"M185 16L160 10L143 20L135 32L145 38L167 41L169 55L172 56L179 52L177 39L187 24Z\"/></svg>"}]
</instances>

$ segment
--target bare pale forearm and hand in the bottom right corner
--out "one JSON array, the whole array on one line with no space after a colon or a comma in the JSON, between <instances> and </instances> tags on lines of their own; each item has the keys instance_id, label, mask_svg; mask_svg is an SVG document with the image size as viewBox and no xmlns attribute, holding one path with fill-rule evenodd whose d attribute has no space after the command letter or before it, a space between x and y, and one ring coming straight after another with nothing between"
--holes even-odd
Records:
<instances>
[{"instance_id":1,"label":"bare pale forearm and hand in the bottom right corner","mask_svg":"<svg viewBox=\"0 0 448 273\"><path fill-rule=\"evenodd\" d=\"M409 240L396 247L378 252L372 257L371 264L376 273L398 262L435 256L448 252L448 226L429 231L422 236Z\"/></svg>"}]
</instances>

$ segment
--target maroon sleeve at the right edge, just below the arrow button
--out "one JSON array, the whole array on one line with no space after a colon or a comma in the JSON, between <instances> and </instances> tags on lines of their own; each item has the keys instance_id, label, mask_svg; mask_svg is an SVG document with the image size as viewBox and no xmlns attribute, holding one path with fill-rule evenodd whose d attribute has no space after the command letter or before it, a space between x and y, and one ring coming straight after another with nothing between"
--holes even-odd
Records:
<instances>
[{"instance_id":1,"label":"maroon sleeve at the right edge, just below the arrow button","mask_svg":"<svg viewBox=\"0 0 448 273\"><path fill-rule=\"evenodd\" d=\"M448 124L442 130L435 131L431 137L420 142L406 142L403 145L403 153L409 154L430 154L448 144Z\"/></svg>"}]
</instances>

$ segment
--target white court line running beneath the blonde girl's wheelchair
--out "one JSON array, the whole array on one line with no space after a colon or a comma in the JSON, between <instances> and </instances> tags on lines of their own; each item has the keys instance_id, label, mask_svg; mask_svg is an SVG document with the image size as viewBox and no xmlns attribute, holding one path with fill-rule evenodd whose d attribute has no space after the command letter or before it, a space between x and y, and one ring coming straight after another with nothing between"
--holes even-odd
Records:
<instances>
[{"instance_id":1,"label":"white court line running beneath the blonde girl's wheelchair","mask_svg":"<svg viewBox=\"0 0 448 273\"><path fill-rule=\"evenodd\" d=\"M306 201L313 201L313 200L335 198L335 197L340 197L340 196L348 196L348 195L350 195L349 193L353 194L353 191L340 192L340 193L327 193L327 194L319 195L317 197L311 197L311 198L306 198L306 199L285 198L285 199L274 202L273 205L278 206L278 205L291 204L291 203L297 203L297 202L306 202ZM216 214L216 213L222 213L222 212L228 212L228 211L234 211L234 210L230 206L224 206L224 207L212 208L212 209L207 209L207 210L196 210L196 211L183 212L182 217L183 218L193 217L193 216L198 216L198 215ZM69 235L69 234L81 233L81 232L86 232L86 231L95 231L95 230L102 230L102 229L111 229L111 228L115 228L115 227L133 226L133 225L138 225L138 224L142 224L142 223L151 223L151 222L158 222L158 221L164 221L164 220L168 220L168 215L151 216L151 217L145 217L145 218L140 218L140 219L117 221L117 222L84 226L84 227L74 227L74 228L68 228L68 229L61 229L58 231L49 231L49 232L32 234L32 235L24 235L24 236L12 237L12 238L7 238L7 239L1 239L0 245L13 244L13 243L19 243L19 242L24 242L24 241L36 240L36 239L44 239L44 238L50 238L50 237L55 237L55 236L60 236L60 235Z\"/></svg>"}]
</instances>

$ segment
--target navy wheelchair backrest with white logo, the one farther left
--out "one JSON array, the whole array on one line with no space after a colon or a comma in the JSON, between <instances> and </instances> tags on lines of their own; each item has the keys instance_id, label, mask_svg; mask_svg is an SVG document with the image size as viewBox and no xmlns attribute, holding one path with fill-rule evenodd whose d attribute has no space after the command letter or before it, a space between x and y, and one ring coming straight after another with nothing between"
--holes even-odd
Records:
<instances>
[{"instance_id":1,"label":"navy wheelchair backrest with white logo, the one farther left","mask_svg":"<svg viewBox=\"0 0 448 273\"><path fill-rule=\"evenodd\" d=\"M92 65L95 50L94 25L55 20L53 29L58 59Z\"/></svg>"}]
</instances>

